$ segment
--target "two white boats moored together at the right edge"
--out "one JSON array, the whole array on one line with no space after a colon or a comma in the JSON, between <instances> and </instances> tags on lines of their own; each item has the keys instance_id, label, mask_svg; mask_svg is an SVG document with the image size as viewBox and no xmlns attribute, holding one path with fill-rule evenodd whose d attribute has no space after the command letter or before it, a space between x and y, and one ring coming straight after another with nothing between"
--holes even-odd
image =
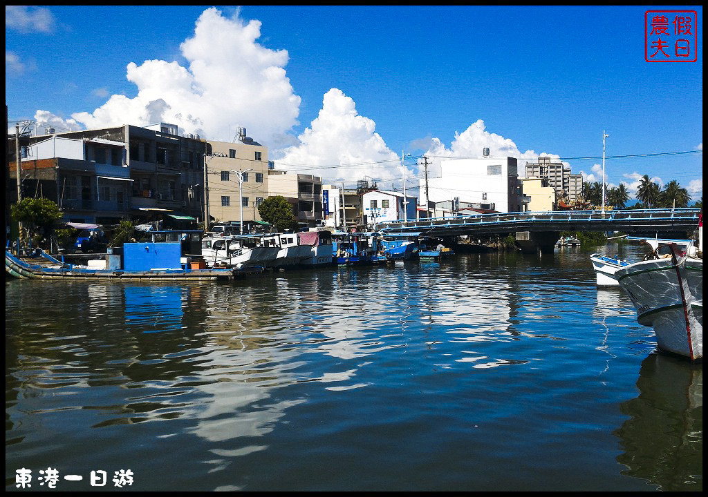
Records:
<instances>
[{"instance_id":1,"label":"two white boats moored together at the right edge","mask_svg":"<svg viewBox=\"0 0 708 497\"><path fill-rule=\"evenodd\" d=\"M692 240L628 237L649 245L644 260L629 262L593 254L598 286L621 287L639 324L653 327L658 349L691 361L703 358L702 217Z\"/></svg>"}]
</instances>

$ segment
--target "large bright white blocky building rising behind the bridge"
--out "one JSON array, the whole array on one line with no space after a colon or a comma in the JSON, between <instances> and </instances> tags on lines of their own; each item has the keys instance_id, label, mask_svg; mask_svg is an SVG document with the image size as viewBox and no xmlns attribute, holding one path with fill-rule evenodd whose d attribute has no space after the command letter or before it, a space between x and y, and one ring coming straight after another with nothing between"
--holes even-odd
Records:
<instances>
[{"instance_id":1,"label":"large bright white blocky building rising behind the bridge","mask_svg":"<svg viewBox=\"0 0 708 497\"><path fill-rule=\"evenodd\" d=\"M513 157L449 158L440 162L440 177L420 180L421 206L426 201L459 199L491 204L499 212L522 211L520 182ZM426 198L426 192L427 197Z\"/></svg>"}]
</instances>

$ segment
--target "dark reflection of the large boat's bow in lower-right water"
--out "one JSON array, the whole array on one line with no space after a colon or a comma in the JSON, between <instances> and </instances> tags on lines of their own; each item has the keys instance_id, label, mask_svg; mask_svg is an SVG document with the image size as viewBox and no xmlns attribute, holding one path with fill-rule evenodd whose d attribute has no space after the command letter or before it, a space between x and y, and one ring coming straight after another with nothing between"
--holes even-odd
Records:
<instances>
[{"instance_id":1,"label":"dark reflection of the large boat's bow in lower-right water","mask_svg":"<svg viewBox=\"0 0 708 497\"><path fill-rule=\"evenodd\" d=\"M652 353L641 363L639 397L624 402L629 419L615 431L628 476L663 491L700 491L703 454L703 368Z\"/></svg>"}]
</instances>

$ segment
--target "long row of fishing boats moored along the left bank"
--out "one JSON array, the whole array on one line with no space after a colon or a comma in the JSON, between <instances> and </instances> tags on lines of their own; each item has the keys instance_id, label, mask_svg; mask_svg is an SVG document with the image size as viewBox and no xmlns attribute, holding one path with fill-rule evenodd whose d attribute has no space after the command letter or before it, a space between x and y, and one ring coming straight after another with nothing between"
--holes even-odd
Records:
<instances>
[{"instance_id":1,"label":"long row of fishing boats moored along the left bank","mask_svg":"<svg viewBox=\"0 0 708 497\"><path fill-rule=\"evenodd\" d=\"M439 241L439 240L438 240ZM265 270L363 265L430 257L452 250L425 239L380 233L302 233L234 235L199 231L153 231L149 241L129 242L109 254L53 257L35 249L31 257L6 250L6 273L37 279L232 279ZM72 259L72 262L69 262ZM85 262L86 264L83 264Z\"/></svg>"}]
</instances>

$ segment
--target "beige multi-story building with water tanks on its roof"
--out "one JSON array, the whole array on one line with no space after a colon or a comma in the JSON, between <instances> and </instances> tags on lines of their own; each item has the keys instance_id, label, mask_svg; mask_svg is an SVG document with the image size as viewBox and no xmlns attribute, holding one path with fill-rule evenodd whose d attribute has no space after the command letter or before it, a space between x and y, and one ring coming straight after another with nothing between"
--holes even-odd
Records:
<instances>
[{"instance_id":1,"label":"beige multi-story building with water tanks on its roof","mask_svg":"<svg viewBox=\"0 0 708 497\"><path fill-rule=\"evenodd\" d=\"M239 128L233 143L207 141L204 162L210 223L238 225L243 216L244 233L263 223L258 206L269 195L268 148Z\"/></svg>"}]
</instances>

